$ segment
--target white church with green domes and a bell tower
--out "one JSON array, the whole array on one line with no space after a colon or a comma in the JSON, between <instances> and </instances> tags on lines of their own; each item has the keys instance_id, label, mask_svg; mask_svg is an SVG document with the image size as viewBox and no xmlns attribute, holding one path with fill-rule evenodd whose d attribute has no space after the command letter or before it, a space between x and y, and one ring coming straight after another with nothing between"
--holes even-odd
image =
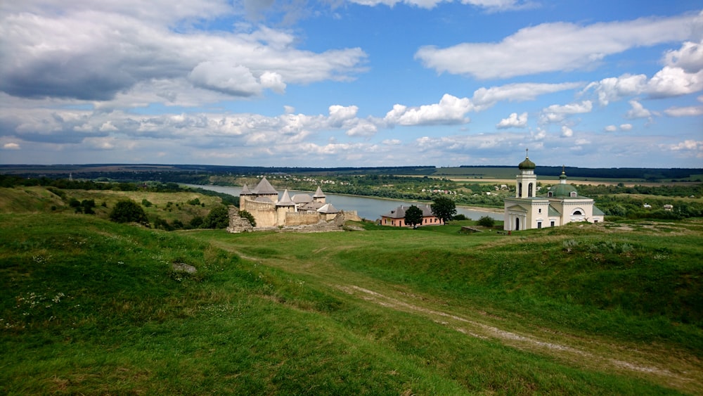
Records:
<instances>
[{"instance_id":1,"label":"white church with green domes and a bell tower","mask_svg":"<svg viewBox=\"0 0 703 396\"><path fill-rule=\"evenodd\" d=\"M593 205L593 199L579 196L562 169L559 184L552 186L545 195L537 196L537 176L534 162L525 155L517 165L520 174L515 184L515 198L505 198L503 229L519 231L562 226L570 222L598 223L605 214Z\"/></svg>"}]
</instances>

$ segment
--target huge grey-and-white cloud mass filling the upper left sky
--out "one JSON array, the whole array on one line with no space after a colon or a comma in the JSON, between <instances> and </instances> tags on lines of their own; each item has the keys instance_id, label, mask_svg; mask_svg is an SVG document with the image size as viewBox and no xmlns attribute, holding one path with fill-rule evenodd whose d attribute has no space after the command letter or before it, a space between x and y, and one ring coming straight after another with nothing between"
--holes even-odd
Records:
<instances>
[{"instance_id":1,"label":"huge grey-and-white cloud mass filling the upper left sky","mask_svg":"<svg viewBox=\"0 0 703 396\"><path fill-rule=\"evenodd\" d=\"M171 29L180 20L234 12L219 1L204 4L206 11L191 3L169 4L163 13L170 16L164 18L153 15L151 2L74 7L46 0L47 11L37 6L41 3L30 0L25 12L6 12L0 19L0 56L13 59L0 63L0 90L13 96L105 101L164 79L252 96L262 89L282 93L286 84L348 80L364 70L361 49L299 50L295 37L283 30ZM181 11L173 11L177 6L183 6ZM61 12L52 13L55 9Z\"/></svg>"}]
</instances>

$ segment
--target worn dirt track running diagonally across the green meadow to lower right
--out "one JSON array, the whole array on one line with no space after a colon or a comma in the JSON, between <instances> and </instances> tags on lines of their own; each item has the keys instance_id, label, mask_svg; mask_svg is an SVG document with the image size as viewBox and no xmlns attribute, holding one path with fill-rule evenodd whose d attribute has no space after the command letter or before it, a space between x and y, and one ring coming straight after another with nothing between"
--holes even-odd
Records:
<instances>
[{"instance_id":1,"label":"worn dirt track running diagonally across the green meadow to lower right","mask_svg":"<svg viewBox=\"0 0 703 396\"><path fill-rule=\"evenodd\" d=\"M239 254L232 245L218 245ZM314 253L333 255L340 249L349 250L352 247L325 246L316 248ZM420 315L467 337L494 340L519 350L553 357L569 366L622 373L683 392L703 395L703 362L685 351L667 350L660 345L620 341L614 343L606 338L561 333L550 328L525 328L515 319L496 317L480 308L457 305L456 302L448 304L433 296L421 295L403 285L385 283L363 274L349 272L335 265L333 260L325 260L325 257L310 262L251 256L251 253L240 254L240 257L259 264L309 276L333 290L347 293L352 298L387 309Z\"/></svg>"}]
</instances>

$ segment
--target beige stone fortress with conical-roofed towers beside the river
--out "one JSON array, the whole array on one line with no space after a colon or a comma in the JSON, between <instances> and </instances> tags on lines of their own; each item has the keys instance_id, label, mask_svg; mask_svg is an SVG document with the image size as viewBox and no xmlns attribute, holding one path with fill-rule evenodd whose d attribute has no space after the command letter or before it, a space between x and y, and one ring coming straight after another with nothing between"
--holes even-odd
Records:
<instances>
[{"instance_id":1,"label":"beige stone fortress with conical-roofed towers beside the river","mask_svg":"<svg viewBox=\"0 0 703 396\"><path fill-rule=\"evenodd\" d=\"M256 227L252 227L239 216L235 207L231 207L227 231L342 231L347 220L360 220L356 211L338 210L326 199L320 187L313 196L301 193L291 197L285 190L279 198L278 191L264 177L254 189L250 190L245 184L239 196L239 210L249 212L256 220Z\"/></svg>"}]
</instances>

